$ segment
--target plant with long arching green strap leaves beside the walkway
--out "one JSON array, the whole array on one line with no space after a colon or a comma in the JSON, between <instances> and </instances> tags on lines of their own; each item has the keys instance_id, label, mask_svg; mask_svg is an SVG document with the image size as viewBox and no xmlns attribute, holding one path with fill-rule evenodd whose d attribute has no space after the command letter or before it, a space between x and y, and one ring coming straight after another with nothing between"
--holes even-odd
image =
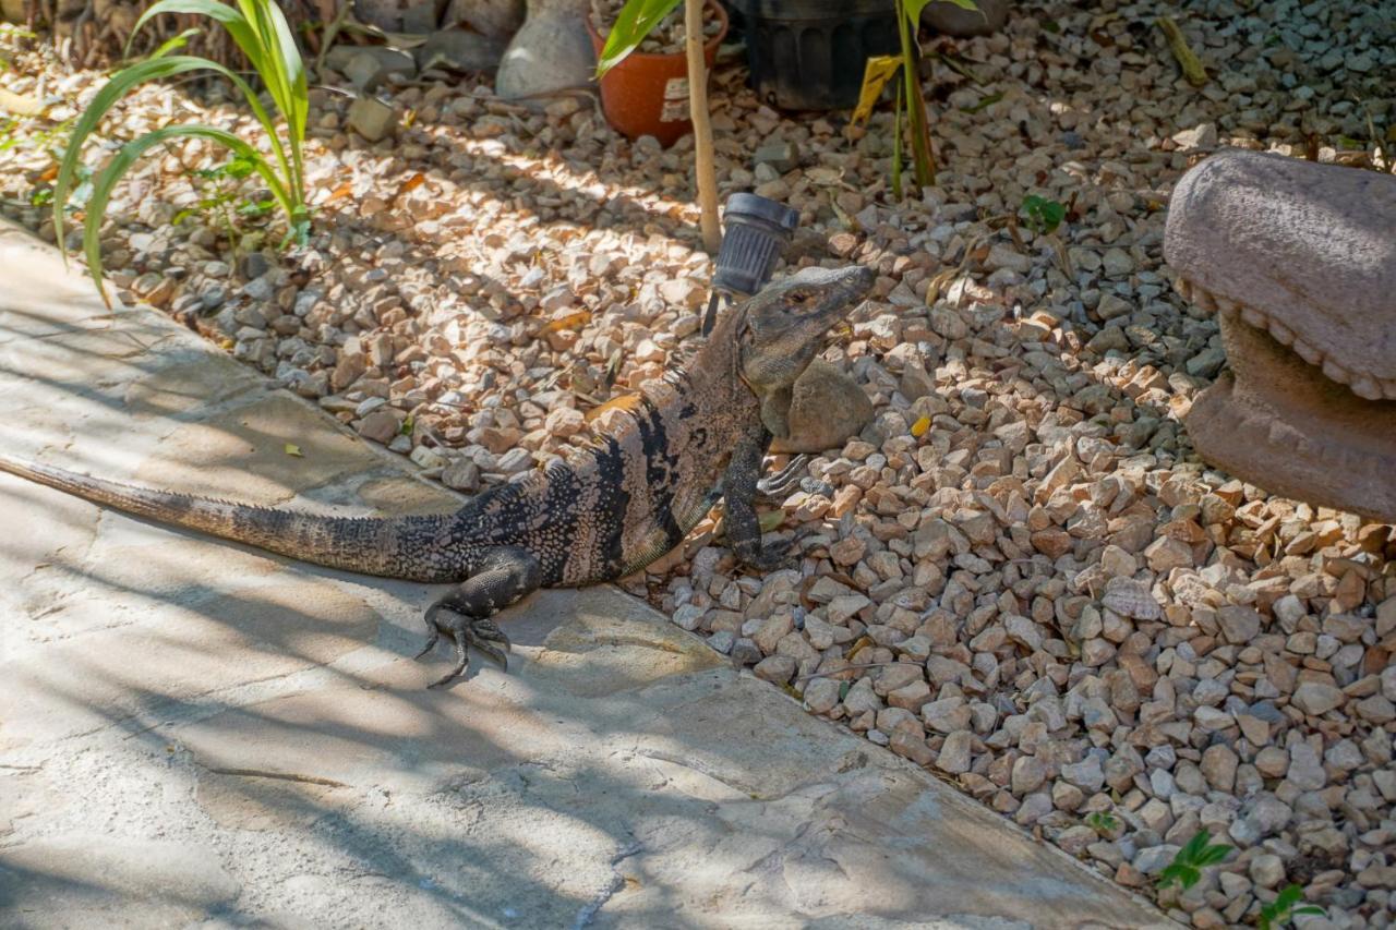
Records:
<instances>
[{"instance_id":1,"label":"plant with long arching green strap leaves beside the walkway","mask_svg":"<svg viewBox=\"0 0 1396 930\"><path fill-rule=\"evenodd\" d=\"M135 28L131 31L133 38L152 17L162 13L201 14L222 25L267 87L272 106L286 124L286 137L282 138L278 121L262 106L251 85L239 74L208 59L169 54L179 47L177 39L187 38L187 32L176 36L176 40L166 42L151 57L113 75L78 119L73 135L68 138L63 162L59 165L59 175L53 184L53 229L60 249L64 246L63 207L68 200L73 182L78 176L82 144L96 130L106 112L140 84L188 71L214 71L226 77L242 92L257 121L261 123L271 148L271 158L226 130L201 124L165 126L123 145L92 180L92 195L87 205L87 221L82 229L82 251L87 257L88 271L92 274L103 302L107 302L107 297L102 288L99 236L112 190L141 155L170 140L201 138L228 148L235 161L250 165L251 170L267 183L272 198L286 216L288 239L295 237L304 242L310 232L310 209L306 204L306 175L302 161L306 120L310 113L310 91L306 81L306 66L285 14L271 0L236 0L236 6L215 0L161 0L137 20ZM110 302L107 306L110 307Z\"/></svg>"}]
</instances>

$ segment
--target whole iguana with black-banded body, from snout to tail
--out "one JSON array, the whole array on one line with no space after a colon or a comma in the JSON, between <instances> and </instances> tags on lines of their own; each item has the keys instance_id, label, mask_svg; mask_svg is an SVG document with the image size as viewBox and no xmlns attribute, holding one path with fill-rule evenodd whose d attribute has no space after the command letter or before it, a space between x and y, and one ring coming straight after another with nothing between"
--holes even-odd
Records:
<instances>
[{"instance_id":1,"label":"whole iguana with black-banded body, from snout to tail","mask_svg":"<svg viewBox=\"0 0 1396 930\"><path fill-rule=\"evenodd\" d=\"M810 268L733 307L687 371L645 384L610 433L546 471L487 490L448 514L324 517L134 487L0 455L0 471L140 517L198 529L329 568L456 588L426 612L427 642L466 645L501 665L491 619L537 588L621 578L677 546L720 497L727 539L755 570L790 549L762 546L754 499L780 429L771 405L824 349L874 281L863 267ZM765 422L762 408L765 411Z\"/></svg>"}]
</instances>

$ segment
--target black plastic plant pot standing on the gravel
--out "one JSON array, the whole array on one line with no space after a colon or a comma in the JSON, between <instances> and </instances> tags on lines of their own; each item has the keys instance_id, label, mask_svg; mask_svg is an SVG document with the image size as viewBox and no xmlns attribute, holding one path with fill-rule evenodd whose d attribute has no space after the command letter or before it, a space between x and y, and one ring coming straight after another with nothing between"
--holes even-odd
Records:
<instances>
[{"instance_id":1,"label":"black plastic plant pot standing on the gravel","mask_svg":"<svg viewBox=\"0 0 1396 930\"><path fill-rule=\"evenodd\" d=\"M741 14L757 95L785 110L846 110L863 66L899 54L893 0L727 0Z\"/></svg>"}]
</instances>

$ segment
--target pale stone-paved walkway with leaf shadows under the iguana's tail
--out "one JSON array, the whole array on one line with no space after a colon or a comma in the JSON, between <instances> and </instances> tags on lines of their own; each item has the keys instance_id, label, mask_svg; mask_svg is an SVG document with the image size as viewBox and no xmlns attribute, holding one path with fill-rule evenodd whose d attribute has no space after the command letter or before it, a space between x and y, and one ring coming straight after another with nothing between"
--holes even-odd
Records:
<instances>
[{"instance_id":1,"label":"pale stone-paved walkway with leaf shadows under the iguana's tail","mask_svg":"<svg viewBox=\"0 0 1396 930\"><path fill-rule=\"evenodd\" d=\"M0 228L0 444L170 489L455 499ZM285 451L295 443L303 457ZM412 662L424 585L0 475L0 926L1163 923L613 588Z\"/></svg>"}]
</instances>

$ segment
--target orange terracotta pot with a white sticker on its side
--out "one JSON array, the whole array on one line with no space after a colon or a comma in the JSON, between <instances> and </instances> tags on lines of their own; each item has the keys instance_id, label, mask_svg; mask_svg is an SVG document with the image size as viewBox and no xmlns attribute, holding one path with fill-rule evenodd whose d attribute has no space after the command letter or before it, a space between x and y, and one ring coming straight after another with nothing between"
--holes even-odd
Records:
<instances>
[{"instance_id":1,"label":"orange terracotta pot with a white sticker on its side","mask_svg":"<svg viewBox=\"0 0 1396 930\"><path fill-rule=\"evenodd\" d=\"M727 13L715 0L704 3L704 18L722 24L718 35L708 39L702 54L712 67L718 46L727 35ZM600 57L606 39L586 17L586 31ZM631 52L624 61L602 78L602 110L616 131L630 138L653 135L669 148L692 131L688 119L688 63L683 52L674 54L646 54Z\"/></svg>"}]
</instances>

